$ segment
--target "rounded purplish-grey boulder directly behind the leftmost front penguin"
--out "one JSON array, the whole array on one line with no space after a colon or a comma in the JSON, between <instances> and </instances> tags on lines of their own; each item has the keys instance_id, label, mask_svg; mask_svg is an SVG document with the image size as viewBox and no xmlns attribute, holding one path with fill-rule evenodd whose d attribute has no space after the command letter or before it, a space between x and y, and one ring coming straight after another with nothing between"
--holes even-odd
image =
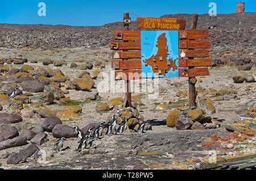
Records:
<instances>
[{"instance_id":1,"label":"rounded purplish-grey boulder directly behind the leftmost front penguin","mask_svg":"<svg viewBox=\"0 0 256 181\"><path fill-rule=\"evenodd\" d=\"M69 127L68 125L65 124L57 124L55 127L52 129L53 137L56 138L72 138L76 137L76 132L75 129L72 127Z\"/></svg>"}]
</instances>

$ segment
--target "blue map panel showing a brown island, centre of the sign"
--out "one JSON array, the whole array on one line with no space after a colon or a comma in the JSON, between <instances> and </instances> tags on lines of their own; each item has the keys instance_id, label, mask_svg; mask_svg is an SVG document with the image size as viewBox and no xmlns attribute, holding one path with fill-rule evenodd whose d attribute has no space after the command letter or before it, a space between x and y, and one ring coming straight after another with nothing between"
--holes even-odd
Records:
<instances>
[{"instance_id":1,"label":"blue map panel showing a brown island, centre of the sign","mask_svg":"<svg viewBox=\"0 0 256 181\"><path fill-rule=\"evenodd\" d=\"M142 31L142 78L179 77L179 32Z\"/></svg>"}]
</instances>

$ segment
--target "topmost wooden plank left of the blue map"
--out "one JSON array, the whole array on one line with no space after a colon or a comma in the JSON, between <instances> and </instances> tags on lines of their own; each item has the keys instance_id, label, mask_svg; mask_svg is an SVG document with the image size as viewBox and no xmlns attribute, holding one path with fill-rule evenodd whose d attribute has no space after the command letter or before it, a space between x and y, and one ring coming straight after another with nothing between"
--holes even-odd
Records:
<instances>
[{"instance_id":1,"label":"topmost wooden plank left of the blue map","mask_svg":"<svg viewBox=\"0 0 256 181\"><path fill-rule=\"evenodd\" d=\"M141 31L114 30L115 40L141 41Z\"/></svg>"}]
</instances>

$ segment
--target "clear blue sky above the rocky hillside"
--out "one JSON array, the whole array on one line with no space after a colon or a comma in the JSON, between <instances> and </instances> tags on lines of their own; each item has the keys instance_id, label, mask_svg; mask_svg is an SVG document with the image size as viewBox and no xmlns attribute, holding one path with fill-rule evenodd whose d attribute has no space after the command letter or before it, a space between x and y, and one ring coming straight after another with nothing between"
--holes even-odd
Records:
<instances>
[{"instance_id":1,"label":"clear blue sky above the rocky hillside","mask_svg":"<svg viewBox=\"0 0 256 181\"><path fill-rule=\"evenodd\" d=\"M46 3L46 16L39 16L39 2ZM208 14L210 2L217 5L217 14L236 12L234 0L0 0L0 23L67 24L101 26L122 21L123 13L142 17L166 14ZM243 0L246 12L256 12L255 0ZM131 20L136 16L130 15Z\"/></svg>"}]
</instances>

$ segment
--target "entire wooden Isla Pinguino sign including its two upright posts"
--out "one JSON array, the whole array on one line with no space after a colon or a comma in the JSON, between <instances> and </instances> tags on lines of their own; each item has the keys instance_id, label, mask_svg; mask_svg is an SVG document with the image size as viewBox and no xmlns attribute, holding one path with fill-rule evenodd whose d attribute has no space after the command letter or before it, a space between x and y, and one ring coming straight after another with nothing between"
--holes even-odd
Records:
<instances>
[{"instance_id":1,"label":"entire wooden Isla Pinguino sign including its two upright posts","mask_svg":"<svg viewBox=\"0 0 256 181\"><path fill-rule=\"evenodd\" d=\"M138 28L160 29L164 32L158 34L158 53L150 57L144 57L144 41L147 31L129 31L131 19L129 13L123 14L123 30L114 30L114 41L111 41L110 48L113 51L112 68L115 69L115 80L125 80L124 107L131 106L130 80L142 79L144 66L151 66L154 74L161 77L188 77L189 85L189 107L196 106L196 77L209 75L208 68L195 68L195 66L210 66L212 60L209 56L210 42L208 30L196 30L197 14L193 14L191 30L185 29L184 18L142 18L137 17ZM168 31L168 32L167 32ZM166 36L172 36L177 41L175 58L167 57L168 48ZM148 34L147 34L148 35ZM142 37L143 41L142 41ZM150 35L151 36L151 35ZM151 38L150 38L151 39ZM147 43L146 43L147 44ZM197 58L195 58L197 57ZM151 70L151 69L147 69ZM173 75L168 75L175 71ZM143 73L145 73L143 71ZM144 75L143 75L144 76ZM148 78L148 77L146 77Z\"/></svg>"}]
</instances>

